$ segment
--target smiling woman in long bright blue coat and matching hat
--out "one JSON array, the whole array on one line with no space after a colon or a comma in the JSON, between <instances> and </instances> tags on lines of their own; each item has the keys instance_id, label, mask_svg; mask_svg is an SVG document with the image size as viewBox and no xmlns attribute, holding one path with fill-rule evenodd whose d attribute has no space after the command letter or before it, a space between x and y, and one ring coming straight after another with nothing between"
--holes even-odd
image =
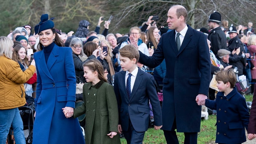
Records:
<instances>
[{"instance_id":1,"label":"smiling woman in long bright blue coat and matching hat","mask_svg":"<svg viewBox=\"0 0 256 144\"><path fill-rule=\"evenodd\" d=\"M33 144L84 144L80 124L72 118L75 108L76 78L72 49L64 46L48 14L42 14L35 34L39 34L38 52L34 53L37 68L37 94ZM56 139L57 138L57 139Z\"/></svg>"}]
</instances>

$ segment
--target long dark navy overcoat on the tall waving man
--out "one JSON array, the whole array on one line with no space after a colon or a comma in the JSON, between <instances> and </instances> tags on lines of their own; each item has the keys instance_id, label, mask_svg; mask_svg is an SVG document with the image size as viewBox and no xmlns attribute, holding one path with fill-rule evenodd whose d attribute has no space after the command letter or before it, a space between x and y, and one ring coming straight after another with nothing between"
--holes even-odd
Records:
<instances>
[{"instance_id":1,"label":"long dark navy overcoat on the tall waving man","mask_svg":"<svg viewBox=\"0 0 256 144\"><path fill-rule=\"evenodd\" d=\"M201 106L198 94L208 94L211 62L206 37L189 25L178 51L175 30L162 35L152 56L139 52L139 62L154 68L163 59L166 75L163 79L163 130L171 130L176 118L177 132L199 132Z\"/></svg>"}]
</instances>

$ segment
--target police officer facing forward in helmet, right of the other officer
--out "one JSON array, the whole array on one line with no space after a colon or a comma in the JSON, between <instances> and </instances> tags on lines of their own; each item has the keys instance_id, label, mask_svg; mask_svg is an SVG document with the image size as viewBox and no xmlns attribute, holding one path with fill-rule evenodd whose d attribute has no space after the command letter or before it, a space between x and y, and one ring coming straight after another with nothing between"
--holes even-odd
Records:
<instances>
[{"instance_id":1,"label":"police officer facing forward in helmet, right of the other officer","mask_svg":"<svg viewBox=\"0 0 256 144\"><path fill-rule=\"evenodd\" d=\"M243 68L246 66L246 52L233 24L229 27L229 37L228 50L231 52L229 63L238 68L238 76L240 76L243 75Z\"/></svg>"}]
</instances>

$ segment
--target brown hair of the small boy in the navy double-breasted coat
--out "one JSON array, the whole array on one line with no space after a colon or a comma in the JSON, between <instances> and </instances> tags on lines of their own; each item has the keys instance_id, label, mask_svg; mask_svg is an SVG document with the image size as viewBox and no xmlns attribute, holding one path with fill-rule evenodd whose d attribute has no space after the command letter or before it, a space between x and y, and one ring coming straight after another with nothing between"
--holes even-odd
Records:
<instances>
[{"instance_id":1,"label":"brown hair of the small boy in the navy double-breasted coat","mask_svg":"<svg viewBox=\"0 0 256 144\"><path fill-rule=\"evenodd\" d=\"M236 74L233 69L228 70L220 70L215 73L216 74L216 81L222 81L224 84L227 82L230 83L230 88L233 88L236 83Z\"/></svg>"}]
</instances>

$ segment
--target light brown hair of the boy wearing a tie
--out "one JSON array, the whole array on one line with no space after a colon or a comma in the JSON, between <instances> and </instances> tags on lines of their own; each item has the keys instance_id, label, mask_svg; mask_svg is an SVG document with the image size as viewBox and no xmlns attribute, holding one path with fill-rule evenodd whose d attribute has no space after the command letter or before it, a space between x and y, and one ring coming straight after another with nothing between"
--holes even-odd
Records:
<instances>
[{"instance_id":1,"label":"light brown hair of the boy wearing a tie","mask_svg":"<svg viewBox=\"0 0 256 144\"><path fill-rule=\"evenodd\" d=\"M119 49L120 56L128 57L129 59L136 59L136 63L139 60L139 50L132 44L127 44Z\"/></svg>"}]
</instances>

